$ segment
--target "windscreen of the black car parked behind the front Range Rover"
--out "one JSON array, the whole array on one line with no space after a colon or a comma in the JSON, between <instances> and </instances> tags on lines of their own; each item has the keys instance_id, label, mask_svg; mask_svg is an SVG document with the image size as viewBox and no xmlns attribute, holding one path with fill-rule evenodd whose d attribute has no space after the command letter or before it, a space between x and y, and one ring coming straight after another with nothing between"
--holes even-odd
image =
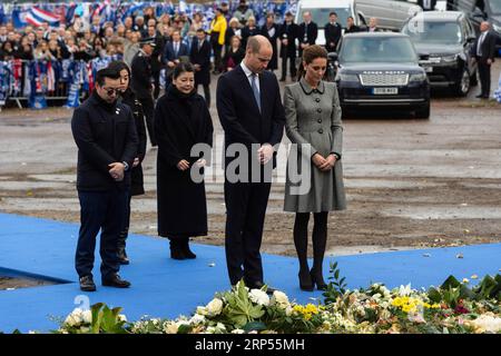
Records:
<instances>
[{"instance_id":1,"label":"windscreen of the black car parked behind the front Range Rover","mask_svg":"<svg viewBox=\"0 0 501 356\"><path fill-rule=\"evenodd\" d=\"M426 43L461 43L463 38L458 22L409 21L402 29L415 42Z\"/></svg>"}]
</instances>

